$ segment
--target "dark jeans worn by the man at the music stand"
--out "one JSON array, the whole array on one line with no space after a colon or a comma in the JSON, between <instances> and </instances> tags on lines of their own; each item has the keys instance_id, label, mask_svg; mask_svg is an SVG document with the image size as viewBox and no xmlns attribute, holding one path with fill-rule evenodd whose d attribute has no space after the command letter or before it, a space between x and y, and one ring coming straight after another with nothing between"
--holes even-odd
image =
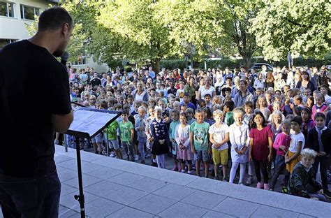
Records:
<instances>
[{"instance_id":1,"label":"dark jeans worn by the man at the music stand","mask_svg":"<svg viewBox=\"0 0 331 218\"><path fill-rule=\"evenodd\" d=\"M43 177L0 179L3 217L58 217L61 182L57 172Z\"/></svg>"}]
</instances>

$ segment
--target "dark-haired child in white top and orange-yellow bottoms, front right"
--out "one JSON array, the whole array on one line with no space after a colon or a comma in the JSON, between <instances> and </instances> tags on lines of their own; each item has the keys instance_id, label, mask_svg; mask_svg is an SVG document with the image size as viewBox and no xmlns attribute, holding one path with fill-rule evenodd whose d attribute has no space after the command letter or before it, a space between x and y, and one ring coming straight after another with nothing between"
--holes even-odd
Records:
<instances>
[{"instance_id":1,"label":"dark-haired child in white top and orange-yellow bottoms, front right","mask_svg":"<svg viewBox=\"0 0 331 218\"><path fill-rule=\"evenodd\" d=\"M294 133L290 136L290 147L285 154L286 174L292 174L295 164L300 162L300 153L304 147L304 135L301 132L302 118L295 116L290 119L290 128ZM288 176L288 175L287 175ZM282 192L288 193L287 184L284 184Z\"/></svg>"}]
</instances>

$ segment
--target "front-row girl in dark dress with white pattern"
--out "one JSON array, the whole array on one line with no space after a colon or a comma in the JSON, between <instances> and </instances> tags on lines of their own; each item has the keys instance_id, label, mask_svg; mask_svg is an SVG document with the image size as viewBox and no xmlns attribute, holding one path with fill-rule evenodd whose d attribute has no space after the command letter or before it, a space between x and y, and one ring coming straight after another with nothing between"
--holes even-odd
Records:
<instances>
[{"instance_id":1,"label":"front-row girl in dark dress with white pattern","mask_svg":"<svg viewBox=\"0 0 331 218\"><path fill-rule=\"evenodd\" d=\"M150 141L153 142L152 154L156 155L156 163L159 168L164 166L164 154L168 154L169 135L165 121L162 119L162 108L155 109L156 117L151 124Z\"/></svg>"}]
</instances>

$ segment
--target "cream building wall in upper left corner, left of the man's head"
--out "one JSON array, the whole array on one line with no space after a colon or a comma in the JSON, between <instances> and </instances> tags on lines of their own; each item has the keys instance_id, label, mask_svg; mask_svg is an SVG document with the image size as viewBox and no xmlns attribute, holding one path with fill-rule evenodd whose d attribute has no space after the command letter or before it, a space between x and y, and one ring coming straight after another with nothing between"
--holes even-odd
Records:
<instances>
[{"instance_id":1,"label":"cream building wall in upper left corner, left of the man's head","mask_svg":"<svg viewBox=\"0 0 331 218\"><path fill-rule=\"evenodd\" d=\"M0 0L6 2L6 0ZM3 17L0 16L0 38L3 39L16 39L22 40L30 38L26 24L31 24L31 20L22 20L20 13L20 4L24 6L33 6L39 8L39 13L42 13L48 6L50 2L45 0L13 0L7 1L14 3L14 15L15 17Z\"/></svg>"}]
</instances>

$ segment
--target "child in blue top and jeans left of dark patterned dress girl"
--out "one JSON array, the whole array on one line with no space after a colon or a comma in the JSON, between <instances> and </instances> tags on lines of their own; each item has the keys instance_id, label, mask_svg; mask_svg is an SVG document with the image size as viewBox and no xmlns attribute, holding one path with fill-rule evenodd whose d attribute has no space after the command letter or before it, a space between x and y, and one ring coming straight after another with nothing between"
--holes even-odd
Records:
<instances>
[{"instance_id":1,"label":"child in blue top and jeans left of dark patterned dress girl","mask_svg":"<svg viewBox=\"0 0 331 218\"><path fill-rule=\"evenodd\" d=\"M135 119L135 131L137 131L138 151L140 153L140 163L145 164L145 145L147 142L147 136L145 133L145 120L146 120L146 108L140 106L138 108L139 117Z\"/></svg>"}]
</instances>

